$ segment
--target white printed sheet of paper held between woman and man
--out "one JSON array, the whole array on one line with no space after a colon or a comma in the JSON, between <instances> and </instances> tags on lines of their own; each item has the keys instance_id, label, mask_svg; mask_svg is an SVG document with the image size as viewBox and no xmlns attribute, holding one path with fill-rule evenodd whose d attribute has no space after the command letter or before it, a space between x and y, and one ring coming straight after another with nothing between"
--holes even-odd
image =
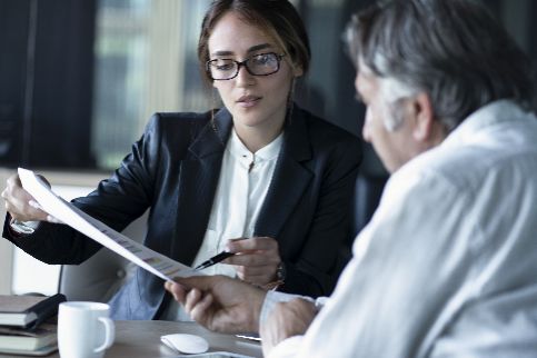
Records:
<instances>
[{"instance_id":1,"label":"white printed sheet of paper held between woman and man","mask_svg":"<svg viewBox=\"0 0 537 358\"><path fill-rule=\"evenodd\" d=\"M90 237L126 259L165 279L201 275L126 237L57 196L33 171L19 168L22 187L41 208L58 220Z\"/></svg>"}]
</instances>

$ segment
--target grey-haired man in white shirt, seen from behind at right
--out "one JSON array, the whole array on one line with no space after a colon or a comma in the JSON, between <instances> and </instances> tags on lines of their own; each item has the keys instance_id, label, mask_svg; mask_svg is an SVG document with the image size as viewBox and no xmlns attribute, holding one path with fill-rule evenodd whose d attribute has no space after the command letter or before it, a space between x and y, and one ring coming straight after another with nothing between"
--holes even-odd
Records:
<instances>
[{"instance_id":1,"label":"grey-haired man in white shirt, seen from behind at right","mask_svg":"<svg viewBox=\"0 0 537 358\"><path fill-rule=\"evenodd\" d=\"M166 287L269 357L537 357L537 118L530 66L468 0L396 0L349 27L364 137L392 173L316 316L221 277Z\"/></svg>"}]
</instances>

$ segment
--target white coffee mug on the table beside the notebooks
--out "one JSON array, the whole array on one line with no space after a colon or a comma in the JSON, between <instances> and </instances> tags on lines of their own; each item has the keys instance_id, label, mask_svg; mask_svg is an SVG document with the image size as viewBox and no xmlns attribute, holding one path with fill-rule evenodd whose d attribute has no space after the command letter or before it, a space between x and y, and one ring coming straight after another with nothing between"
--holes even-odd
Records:
<instances>
[{"instance_id":1,"label":"white coffee mug on the table beside the notebooks","mask_svg":"<svg viewBox=\"0 0 537 358\"><path fill-rule=\"evenodd\" d=\"M101 358L115 339L110 306L99 302L60 304L58 348L62 358Z\"/></svg>"}]
</instances>

